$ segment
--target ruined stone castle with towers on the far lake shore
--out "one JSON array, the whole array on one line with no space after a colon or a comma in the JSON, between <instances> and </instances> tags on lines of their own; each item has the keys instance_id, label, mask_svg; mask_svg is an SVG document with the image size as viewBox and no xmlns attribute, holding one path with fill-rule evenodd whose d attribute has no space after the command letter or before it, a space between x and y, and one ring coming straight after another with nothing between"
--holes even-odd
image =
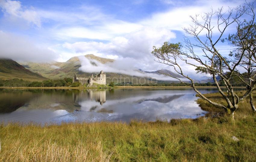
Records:
<instances>
[{"instance_id":1,"label":"ruined stone castle with towers on the far lake shore","mask_svg":"<svg viewBox=\"0 0 256 162\"><path fill-rule=\"evenodd\" d=\"M102 70L99 74L95 76L92 74L89 78L76 77L75 74L73 82L80 82L82 85L88 84L89 86L92 86L93 83L106 85L106 74Z\"/></svg>"}]
</instances>

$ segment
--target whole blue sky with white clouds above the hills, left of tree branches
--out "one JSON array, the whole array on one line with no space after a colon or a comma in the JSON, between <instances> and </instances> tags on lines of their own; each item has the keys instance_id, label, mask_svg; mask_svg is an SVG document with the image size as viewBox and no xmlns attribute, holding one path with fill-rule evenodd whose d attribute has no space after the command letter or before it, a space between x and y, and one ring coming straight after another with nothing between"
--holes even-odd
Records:
<instances>
[{"instance_id":1,"label":"whole blue sky with white clouds above the hills, left of tree branches","mask_svg":"<svg viewBox=\"0 0 256 162\"><path fill-rule=\"evenodd\" d=\"M153 60L152 46L181 42L182 28L191 24L189 15L244 2L0 0L1 55L17 61L49 62L95 54L121 60L126 68L168 68ZM229 31L233 33L234 27ZM229 46L219 46L228 54ZM192 72L194 68L186 69Z\"/></svg>"}]
</instances>

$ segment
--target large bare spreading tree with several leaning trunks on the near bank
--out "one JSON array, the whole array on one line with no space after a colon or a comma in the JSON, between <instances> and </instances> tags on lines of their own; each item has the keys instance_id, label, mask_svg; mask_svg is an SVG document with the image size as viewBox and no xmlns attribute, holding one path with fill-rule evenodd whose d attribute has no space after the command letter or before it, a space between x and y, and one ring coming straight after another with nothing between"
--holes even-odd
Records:
<instances>
[{"instance_id":1,"label":"large bare spreading tree with several leaning trunks on the near bank","mask_svg":"<svg viewBox=\"0 0 256 162\"><path fill-rule=\"evenodd\" d=\"M236 40L238 43L242 44L243 41L245 41L246 37L251 32L251 26L254 24L253 6L253 4L247 3L236 8L229 8L229 10L226 12L223 11L222 7L217 11L213 11L211 9L211 12L209 13L190 16L193 25L190 25L189 28L184 28L185 32L189 35L189 37L184 38L184 45L181 43L164 42L163 46L160 48L153 46L153 51L151 52L157 58L157 62L172 66L178 74L188 79L190 83L169 74L162 74L176 78L180 82L187 84L188 86L192 87L203 99L214 106L225 109L227 113L232 114L234 117L234 112L238 108L238 103L250 96L252 90L254 90L254 85L256 82L254 79L252 79L254 76L249 75L250 86L248 86L242 97L239 97L232 87L231 77L238 75L241 80L244 80L244 76L239 73L238 67L242 65L245 58L248 57L247 59L251 60L251 62L253 62L252 60L255 60L255 58L253 54L248 55L248 52L245 52L246 50L248 51L246 46L243 47L244 49L241 49L241 46L240 48L236 47L236 51L239 54L237 54L235 57L224 57L223 54L219 52L217 45L221 42L221 40L223 40L223 35L226 33L227 28L234 25L237 26L236 36L238 37L236 37ZM242 16L249 16L251 20L249 27L247 27L248 30L243 30L244 33L241 36L241 28L246 24L245 20L241 20ZM229 36L230 38L232 37L231 35ZM223 41L225 41L225 39ZM229 41L229 43L232 44L232 39L227 38L226 41ZM253 46L254 45L255 42L253 43ZM233 46L235 47L236 44L233 43ZM201 49L201 53L196 53L195 49ZM188 75L184 74L180 62L194 66L197 72L210 74L214 80L214 83L216 84L218 92L225 99L227 106L218 102L213 102L205 97L204 94L199 92L195 87L194 80ZM254 65L251 64L251 67L252 66ZM250 72L252 72L252 70ZM219 76L223 81L228 93L225 93L220 88L219 82L216 78L217 76Z\"/></svg>"}]
</instances>

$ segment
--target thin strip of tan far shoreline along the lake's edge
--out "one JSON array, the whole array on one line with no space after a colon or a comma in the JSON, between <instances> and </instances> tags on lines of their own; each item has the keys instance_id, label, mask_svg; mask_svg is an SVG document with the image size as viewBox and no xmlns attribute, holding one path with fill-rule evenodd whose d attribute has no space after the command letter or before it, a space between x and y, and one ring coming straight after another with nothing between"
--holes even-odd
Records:
<instances>
[{"instance_id":1,"label":"thin strip of tan far shoreline along the lake's edge","mask_svg":"<svg viewBox=\"0 0 256 162\"><path fill-rule=\"evenodd\" d=\"M179 88L192 88L189 86L116 86L112 88L98 88L98 87L0 87L0 89L179 89ZM205 89L217 89L215 86L196 86L196 88L205 88ZM226 87L221 87L226 88ZM246 87L233 87L233 88L246 88Z\"/></svg>"}]
</instances>

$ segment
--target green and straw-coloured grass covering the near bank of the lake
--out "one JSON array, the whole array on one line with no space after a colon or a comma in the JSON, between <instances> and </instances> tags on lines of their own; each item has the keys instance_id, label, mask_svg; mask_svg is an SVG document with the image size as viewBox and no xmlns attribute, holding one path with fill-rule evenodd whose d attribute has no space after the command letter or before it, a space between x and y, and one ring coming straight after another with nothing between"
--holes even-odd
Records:
<instances>
[{"instance_id":1,"label":"green and straw-coloured grass covering the near bank of the lake","mask_svg":"<svg viewBox=\"0 0 256 162\"><path fill-rule=\"evenodd\" d=\"M207 95L222 101L217 93ZM240 103L235 121L222 114L156 122L9 123L0 125L0 161L256 161L255 134L248 100Z\"/></svg>"}]
</instances>

